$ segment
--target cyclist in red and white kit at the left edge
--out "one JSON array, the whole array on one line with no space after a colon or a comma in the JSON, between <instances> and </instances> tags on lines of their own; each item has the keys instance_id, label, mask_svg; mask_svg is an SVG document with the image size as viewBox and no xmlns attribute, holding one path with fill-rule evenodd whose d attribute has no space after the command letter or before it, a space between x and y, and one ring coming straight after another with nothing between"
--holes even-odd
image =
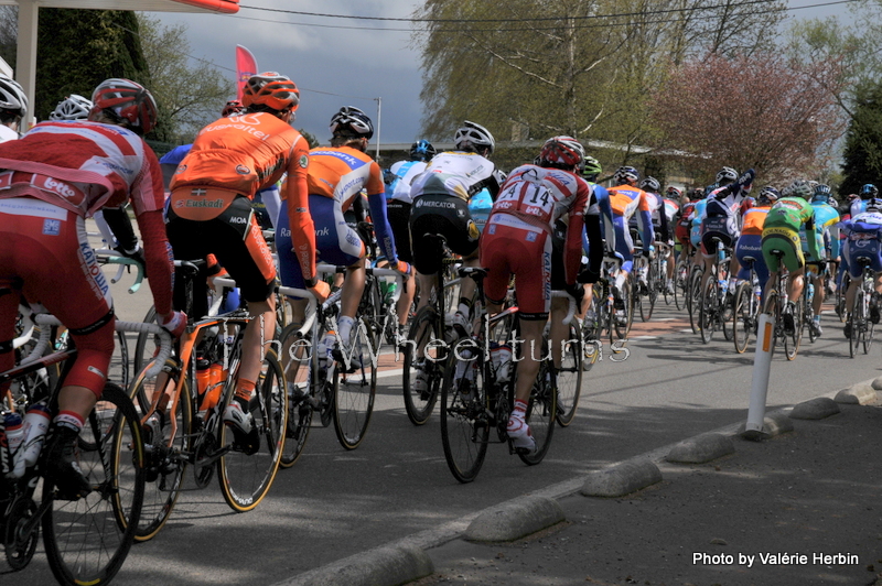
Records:
<instances>
[{"instance_id":1,"label":"cyclist in red and white kit at the left edge","mask_svg":"<svg viewBox=\"0 0 882 586\"><path fill-rule=\"evenodd\" d=\"M0 370L13 366L21 293L69 328L77 356L47 444L49 471L64 498L89 492L77 436L101 395L116 340L110 287L86 238L86 216L132 202L159 322L178 336L186 325L172 311L161 174L142 138L155 124L157 104L141 85L116 78L92 99L88 121L41 122L14 144L0 144L0 275L12 293L0 295Z\"/></svg>"}]
</instances>

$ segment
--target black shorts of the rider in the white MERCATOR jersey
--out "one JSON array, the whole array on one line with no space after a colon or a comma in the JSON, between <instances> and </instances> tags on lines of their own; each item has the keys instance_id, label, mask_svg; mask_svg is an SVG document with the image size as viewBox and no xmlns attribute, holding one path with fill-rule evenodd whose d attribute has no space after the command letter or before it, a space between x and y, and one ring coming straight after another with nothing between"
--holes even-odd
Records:
<instances>
[{"instance_id":1,"label":"black shorts of the rider in the white MERCATOR jersey","mask_svg":"<svg viewBox=\"0 0 882 586\"><path fill-rule=\"evenodd\" d=\"M443 236L454 254L467 258L477 251L481 232L464 199L452 195L426 194L417 197L410 208L413 265L422 274L434 274L441 270L443 248L437 238L431 238L432 235Z\"/></svg>"}]
</instances>

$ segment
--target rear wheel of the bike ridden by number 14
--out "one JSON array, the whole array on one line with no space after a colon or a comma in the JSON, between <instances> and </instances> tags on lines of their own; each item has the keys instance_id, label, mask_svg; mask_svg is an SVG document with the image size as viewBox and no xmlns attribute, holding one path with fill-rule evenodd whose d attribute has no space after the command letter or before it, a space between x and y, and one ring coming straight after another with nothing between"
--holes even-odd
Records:
<instances>
[{"instance_id":1,"label":"rear wheel of the bike ridden by number 14","mask_svg":"<svg viewBox=\"0 0 882 586\"><path fill-rule=\"evenodd\" d=\"M444 459L454 478L471 482L477 477L487 455L491 421L485 365L471 338L462 338L450 349L456 368L448 368L441 386L441 444ZM469 360L460 360L470 356Z\"/></svg>"}]
</instances>

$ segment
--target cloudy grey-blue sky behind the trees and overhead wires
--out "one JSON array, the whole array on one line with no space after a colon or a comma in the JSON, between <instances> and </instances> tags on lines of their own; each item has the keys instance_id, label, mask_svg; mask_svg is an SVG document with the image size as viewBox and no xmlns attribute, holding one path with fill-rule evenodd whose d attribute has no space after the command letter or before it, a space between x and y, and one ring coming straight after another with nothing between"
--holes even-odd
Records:
<instances>
[{"instance_id":1,"label":"cloudy grey-blue sky behind the trees and overhead wires","mask_svg":"<svg viewBox=\"0 0 882 586\"><path fill-rule=\"evenodd\" d=\"M322 142L330 138L327 122L341 106L362 108L376 124L378 104L381 142L412 142L419 138L422 78L411 28L407 22L367 18L406 19L421 2L240 0L240 3L243 8L235 15L157 15L166 24L185 24L191 56L212 62L230 79L235 77L237 44L251 51L258 69L278 70L291 77L301 90L294 126ZM845 13L848 4L835 0L790 0L789 6L814 7L790 12L794 18L805 19Z\"/></svg>"}]
</instances>

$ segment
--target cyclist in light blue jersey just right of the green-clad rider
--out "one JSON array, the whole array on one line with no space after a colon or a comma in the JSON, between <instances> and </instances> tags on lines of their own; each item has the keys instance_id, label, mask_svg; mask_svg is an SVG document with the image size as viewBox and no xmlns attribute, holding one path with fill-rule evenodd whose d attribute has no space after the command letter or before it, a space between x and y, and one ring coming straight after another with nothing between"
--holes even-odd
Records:
<instances>
[{"instance_id":1,"label":"cyclist in light blue jersey just right of the green-clad rider","mask_svg":"<svg viewBox=\"0 0 882 586\"><path fill-rule=\"evenodd\" d=\"M815 208L815 230L814 237L817 242L817 250L821 253L821 258L815 258L808 247L808 237L806 236L806 228L803 226L799 229L799 238L803 241L803 253L806 257L806 276L813 284L815 290L815 297L813 300L813 308L815 310L815 317L811 328L815 330L816 336L820 336L822 329L820 327L820 306L824 303L824 286L821 281L821 273L824 272L825 264L830 260L839 257L839 211L829 204L827 198L830 196L829 185L818 184L815 186L815 194L811 196L811 207ZM826 243L829 242L829 250Z\"/></svg>"}]
</instances>

